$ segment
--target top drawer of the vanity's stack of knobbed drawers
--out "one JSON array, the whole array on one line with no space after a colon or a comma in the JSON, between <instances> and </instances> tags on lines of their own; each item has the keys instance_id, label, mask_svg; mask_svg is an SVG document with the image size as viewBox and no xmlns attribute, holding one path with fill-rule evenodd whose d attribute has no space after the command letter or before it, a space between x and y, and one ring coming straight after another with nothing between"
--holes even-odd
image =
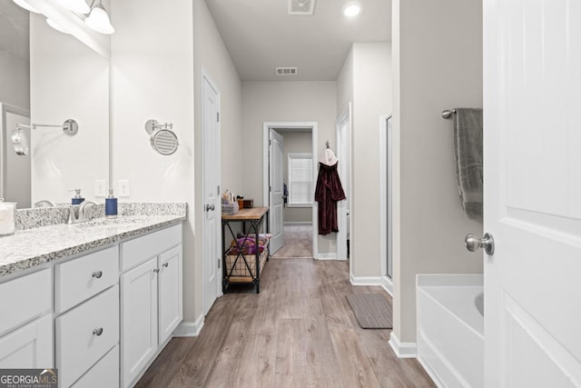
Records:
<instances>
[{"instance_id":1,"label":"top drawer of the vanity's stack of knobbed drawers","mask_svg":"<svg viewBox=\"0 0 581 388\"><path fill-rule=\"evenodd\" d=\"M119 279L119 248L54 265L54 310L62 313L111 287Z\"/></svg>"}]
</instances>

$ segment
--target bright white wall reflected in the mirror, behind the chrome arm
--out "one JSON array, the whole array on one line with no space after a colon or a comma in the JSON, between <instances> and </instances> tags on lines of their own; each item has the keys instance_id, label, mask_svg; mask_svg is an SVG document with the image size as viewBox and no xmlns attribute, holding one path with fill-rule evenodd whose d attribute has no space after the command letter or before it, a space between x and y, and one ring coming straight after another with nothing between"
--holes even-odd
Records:
<instances>
[{"instance_id":1,"label":"bright white wall reflected in the mirror, behind the chrome arm","mask_svg":"<svg viewBox=\"0 0 581 388\"><path fill-rule=\"evenodd\" d=\"M70 202L80 188L94 200L94 180L109 175L109 62L103 56L30 19L31 122L59 124L72 118L77 134L59 128L32 131L32 199Z\"/></svg>"}]
</instances>

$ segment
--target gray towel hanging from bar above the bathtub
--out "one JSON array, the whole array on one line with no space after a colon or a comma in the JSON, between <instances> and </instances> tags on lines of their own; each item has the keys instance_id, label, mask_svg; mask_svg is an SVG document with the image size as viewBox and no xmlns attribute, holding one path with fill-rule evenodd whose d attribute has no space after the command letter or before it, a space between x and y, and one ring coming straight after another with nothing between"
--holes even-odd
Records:
<instances>
[{"instance_id":1,"label":"gray towel hanging from bar above the bathtub","mask_svg":"<svg viewBox=\"0 0 581 388\"><path fill-rule=\"evenodd\" d=\"M454 151L458 194L464 213L482 221L482 109L456 108Z\"/></svg>"}]
</instances>

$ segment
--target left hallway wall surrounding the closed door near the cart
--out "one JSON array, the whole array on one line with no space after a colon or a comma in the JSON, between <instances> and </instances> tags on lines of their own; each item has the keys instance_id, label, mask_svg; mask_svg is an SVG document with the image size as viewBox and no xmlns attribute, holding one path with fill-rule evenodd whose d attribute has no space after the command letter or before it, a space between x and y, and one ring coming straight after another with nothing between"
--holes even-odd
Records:
<instances>
[{"instance_id":1,"label":"left hallway wall surrounding the closed door near the cart","mask_svg":"<svg viewBox=\"0 0 581 388\"><path fill-rule=\"evenodd\" d=\"M244 195L243 184L247 178L247 170L243 165L242 154L245 152L242 136L241 81L234 67L228 50L222 41L212 15L206 3L202 0L193 2L193 70L195 85L195 109L202 110L202 67L210 75L212 82L220 89L220 129L221 129L221 185L222 191ZM202 182L202 114L195 116L195 176L197 182ZM204 201L202 185L195 186L195 209L203 214ZM192 211L192 209L190 209ZM191 213L192 214L192 213ZM192 216L192 215L191 215ZM195 220L195 257L199 264L196 267L195 279L195 311L196 317L202 313L202 217Z\"/></svg>"}]
</instances>

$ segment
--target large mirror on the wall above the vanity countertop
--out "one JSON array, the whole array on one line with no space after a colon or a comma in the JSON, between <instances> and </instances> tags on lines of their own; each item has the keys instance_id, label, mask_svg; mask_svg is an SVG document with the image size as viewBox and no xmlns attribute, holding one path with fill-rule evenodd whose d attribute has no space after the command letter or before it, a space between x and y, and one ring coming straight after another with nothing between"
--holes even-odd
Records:
<instances>
[{"instance_id":1,"label":"large mirror on the wall above the vanity countertop","mask_svg":"<svg viewBox=\"0 0 581 388\"><path fill-rule=\"evenodd\" d=\"M25 208L41 200L70 203L69 190L81 189L84 198L103 201L95 181L109 181L107 53L93 44L78 16L54 0L39 5L61 24L71 19L74 35L54 30L46 16L13 1L0 2L0 197ZM67 119L78 123L76 134L38 125ZM38 125L23 130L25 155L15 152L16 124Z\"/></svg>"}]
</instances>

